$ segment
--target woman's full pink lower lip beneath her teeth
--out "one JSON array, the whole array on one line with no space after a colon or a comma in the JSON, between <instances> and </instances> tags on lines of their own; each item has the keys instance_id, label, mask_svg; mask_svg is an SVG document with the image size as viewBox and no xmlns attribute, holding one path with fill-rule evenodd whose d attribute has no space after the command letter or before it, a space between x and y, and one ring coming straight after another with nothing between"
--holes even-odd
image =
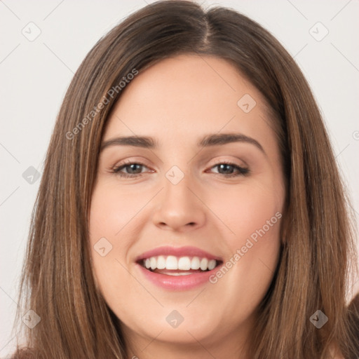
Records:
<instances>
[{"instance_id":1,"label":"woman's full pink lower lip beneath her teeth","mask_svg":"<svg viewBox=\"0 0 359 359\"><path fill-rule=\"evenodd\" d=\"M219 266L216 266L212 271L205 271L203 273L194 273L185 276L168 276L166 274L159 274L145 269L140 264L140 271L151 283L158 285L168 290L189 290L195 287L199 287L206 282L209 282L209 277L218 271Z\"/></svg>"}]
</instances>

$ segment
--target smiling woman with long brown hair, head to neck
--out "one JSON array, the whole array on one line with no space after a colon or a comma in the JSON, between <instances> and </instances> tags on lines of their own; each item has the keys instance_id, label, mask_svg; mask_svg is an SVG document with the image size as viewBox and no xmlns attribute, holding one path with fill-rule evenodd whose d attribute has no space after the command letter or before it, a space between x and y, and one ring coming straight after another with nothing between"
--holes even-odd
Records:
<instances>
[{"instance_id":1,"label":"smiling woman with long brown hair, head to neck","mask_svg":"<svg viewBox=\"0 0 359 359\"><path fill-rule=\"evenodd\" d=\"M351 228L280 43L226 8L151 4L65 96L14 358L358 358Z\"/></svg>"}]
</instances>

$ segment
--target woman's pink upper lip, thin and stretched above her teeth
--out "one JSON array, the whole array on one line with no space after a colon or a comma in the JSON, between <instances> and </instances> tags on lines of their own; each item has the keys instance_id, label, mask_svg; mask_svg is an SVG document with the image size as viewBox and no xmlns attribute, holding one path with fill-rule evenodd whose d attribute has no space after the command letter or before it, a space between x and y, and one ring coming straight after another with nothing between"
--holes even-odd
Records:
<instances>
[{"instance_id":1,"label":"woman's pink upper lip, thin and stretched above her teeth","mask_svg":"<svg viewBox=\"0 0 359 359\"><path fill-rule=\"evenodd\" d=\"M162 246L142 253L142 255L137 257L136 262L142 259L156 257L158 255L173 255L175 257L201 257L201 258L216 259L217 261L222 261L221 257L211 255L210 253L206 252L205 250L201 250L200 248L191 247L191 246L186 246L186 247Z\"/></svg>"}]
</instances>

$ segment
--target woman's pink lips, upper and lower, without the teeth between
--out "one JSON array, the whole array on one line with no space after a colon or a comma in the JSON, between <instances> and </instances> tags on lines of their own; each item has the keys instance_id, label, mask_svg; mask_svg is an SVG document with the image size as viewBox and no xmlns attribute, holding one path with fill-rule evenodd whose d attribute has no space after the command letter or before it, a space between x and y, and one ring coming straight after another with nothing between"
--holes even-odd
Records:
<instances>
[{"instance_id":1,"label":"woman's pink lips, upper and lower, without the teeth between","mask_svg":"<svg viewBox=\"0 0 359 359\"><path fill-rule=\"evenodd\" d=\"M187 276L169 276L166 274L149 271L140 264L143 259L156 257L158 255L174 255L175 257L205 257L208 259L216 259L218 262L223 262L220 257L215 257L214 255L211 255L210 253L195 247L175 248L165 246L144 252L136 259L140 273L142 273L144 278L149 280L151 283L154 283L155 285L158 285L159 287L162 287L166 290L189 290L194 287L203 285L209 281L209 277L212 274L218 271L219 266L216 266L214 269L212 269L212 271L198 272L189 274Z\"/></svg>"}]
</instances>

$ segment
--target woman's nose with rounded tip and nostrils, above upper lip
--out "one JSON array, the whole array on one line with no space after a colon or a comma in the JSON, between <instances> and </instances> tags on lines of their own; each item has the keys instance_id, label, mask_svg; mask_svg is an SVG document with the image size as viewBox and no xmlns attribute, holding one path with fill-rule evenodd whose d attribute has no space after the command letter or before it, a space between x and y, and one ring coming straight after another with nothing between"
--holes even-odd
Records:
<instances>
[{"instance_id":1,"label":"woman's nose with rounded tip and nostrils, above upper lip","mask_svg":"<svg viewBox=\"0 0 359 359\"><path fill-rule=\"evenodd\" d=\"M177 184L167 178L164 189L157 198L153 221L161 229L185 232L198 229L205 224L205 205L201 201L187 175ZM193 184L193 182L192 182Z\"/></svg>"}]
</instances>

